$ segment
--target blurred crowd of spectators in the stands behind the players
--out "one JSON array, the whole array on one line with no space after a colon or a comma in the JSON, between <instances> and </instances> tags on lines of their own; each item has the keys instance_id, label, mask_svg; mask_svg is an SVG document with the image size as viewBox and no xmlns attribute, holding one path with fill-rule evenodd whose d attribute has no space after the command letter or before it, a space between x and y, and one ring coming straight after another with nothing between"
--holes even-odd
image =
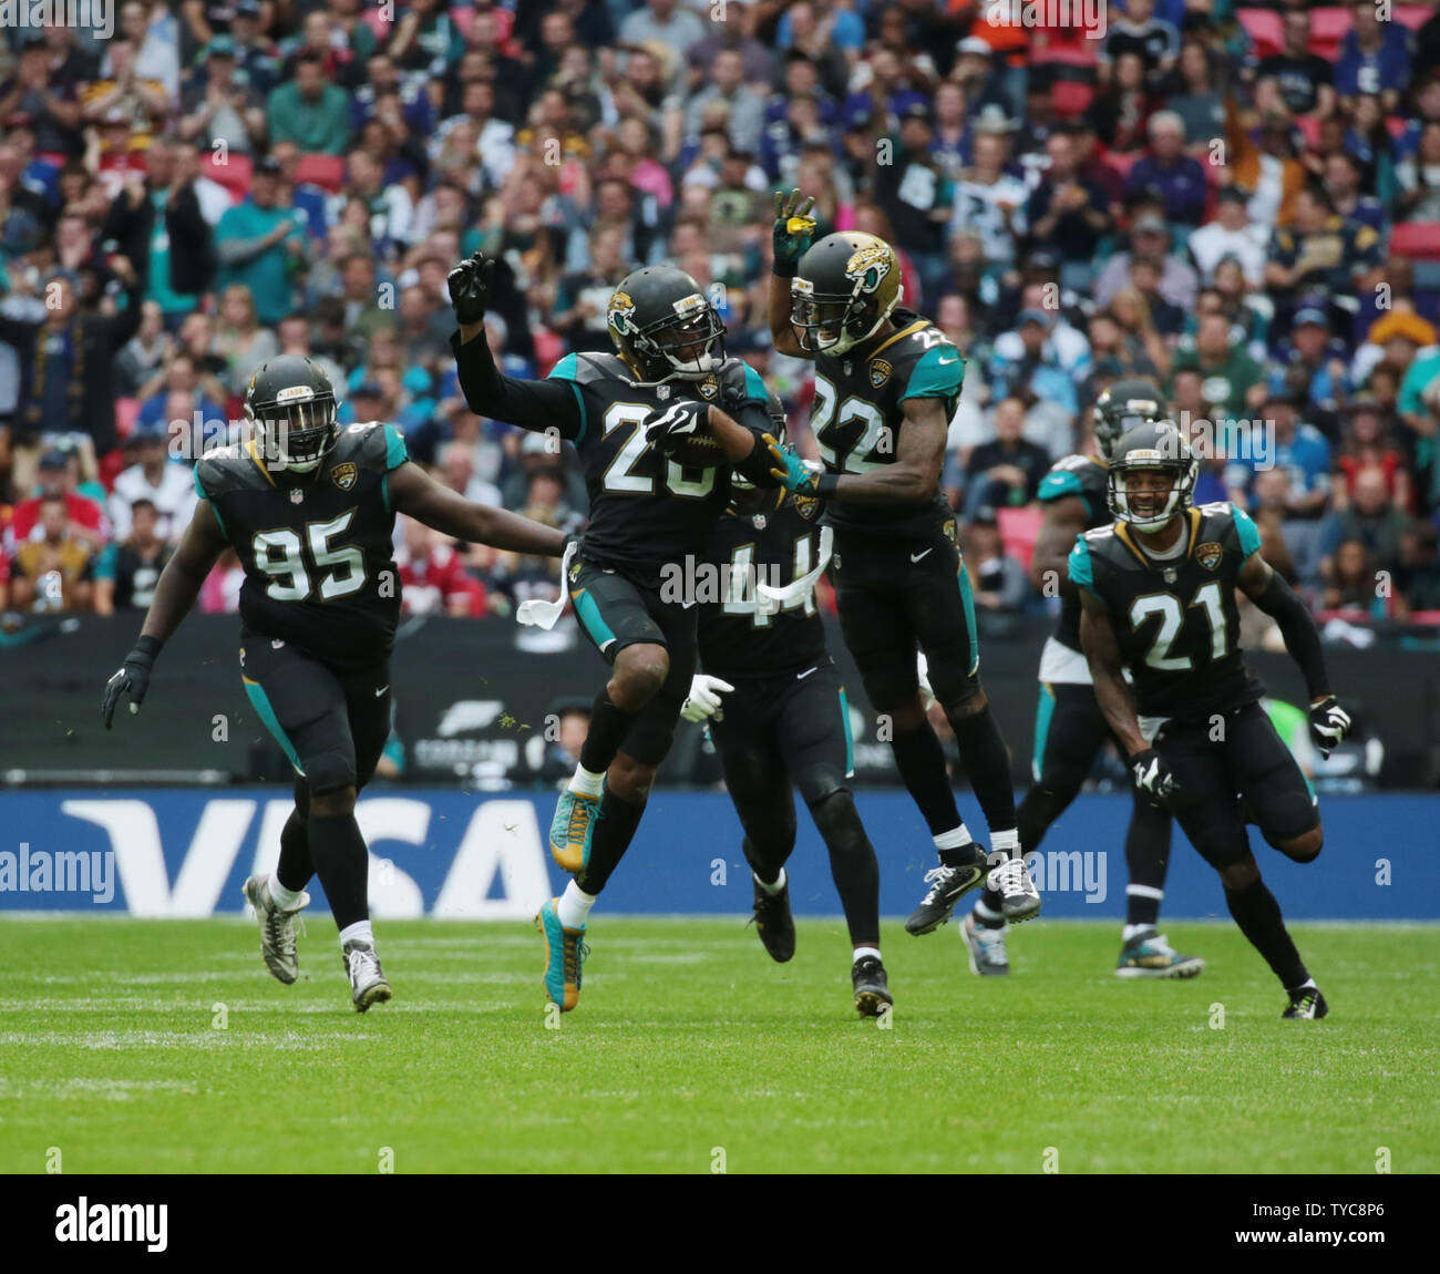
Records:
<instances>
[{"instance_id":1,"label":"blurred crowd of spectators in the stands behind the players","mask_svg":"<svg viewBox=\"0 0 1440 1274\"><path fill-rule=\"evenodd\" d=\"M6 30L0 610L145 606L190 462L281 351L456 491L582 520L567 459L456 387L445 275L480 248L527 376L609 348L615 284L674 261L814 455L811 364L766 321L798 186L819 233L893 242L968 356L945 485L992 631L1045 605L1037 485L1129 376L1313 609L1437 618L1436 6L1113 0L1103 39L1009 7L125 0L108 40ZM552 595L553 563L396 540L412 613ZM238 586L232 553L203 607Z\"/></svg>"}]
</instances>

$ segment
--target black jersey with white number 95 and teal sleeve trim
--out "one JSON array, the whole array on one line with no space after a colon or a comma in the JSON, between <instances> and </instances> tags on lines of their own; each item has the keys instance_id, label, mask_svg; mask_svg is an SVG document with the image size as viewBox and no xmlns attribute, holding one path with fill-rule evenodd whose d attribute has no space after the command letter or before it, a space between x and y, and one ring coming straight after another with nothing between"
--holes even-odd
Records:
<instances>
[{"instance_id":1,"label":"black jersey with white number 95 and teal sleeve trim","mask_svg":"<svg viewBox=\"0 0 1440 1274\"><path fill-rule=\"evenodd\" d=\"M245 567L245 633L341 669L384 659L400 615L389 474L409 459L395 425L351 425L314 474L274 472L253 442L206 452L194 487Z\"/></svg>"}]
</instances>

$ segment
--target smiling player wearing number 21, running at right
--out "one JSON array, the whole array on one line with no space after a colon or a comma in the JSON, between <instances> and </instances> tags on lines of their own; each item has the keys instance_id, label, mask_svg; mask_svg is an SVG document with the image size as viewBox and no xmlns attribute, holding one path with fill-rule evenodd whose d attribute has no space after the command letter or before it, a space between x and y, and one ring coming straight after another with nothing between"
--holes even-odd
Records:
<instances>
[{"instance_id":1,"label":"smiling player wearing number 21, running at right","mask_svg":"<svg viewBox=\"0 0 1440 1274\"><path fill-rule=\"evenodd\" d=\"M1197 465L1168 420L1115 446L1110 527L1070 554L1080 589L1080 642L1106 721L1135 785L1166 803L1220 872L1240 931L1284 986L1284 1018L1323 1018L1320 995L1260 878L1248 809L1266 841L1296 862L1320 852L1315 796L1260 707L1240 655L1240 589L1280 626L1310 697L1310 736L1329 754L1349 730L1331 694L1320 635L1305 605L1260 556L1260 533L1228 502L1191 507ZM1133 684L1125 681L1129 668Z\"/></svg>"}]
</instances>

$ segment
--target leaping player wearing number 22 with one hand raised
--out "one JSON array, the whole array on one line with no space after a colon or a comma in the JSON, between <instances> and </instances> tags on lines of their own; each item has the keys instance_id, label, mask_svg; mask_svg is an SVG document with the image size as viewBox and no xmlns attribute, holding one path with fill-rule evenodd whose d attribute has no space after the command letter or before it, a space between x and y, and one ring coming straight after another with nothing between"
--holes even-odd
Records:
<instances>
[{"instance_id":1,"label":"leaping player wearing number 22 with one hand raised","mask_svg":"<svg viewBox=\"0 0 1440 1274\"><path fill-rule=\"evenodd\" d=\"M776 475L825 501L845 645L871 705L890 718L896 766L939 851L906 929L930 933L982 881L995 911L1030 920L1040 895L1021 854L1009 757L979 682L955 514L940 491L965 360L929 320L900 308L900 262L888 243L841 232L808 246L811 203L799 191L776 196L770 334L780 353L815 360L811 428L825 474L778 449ZM926 720L917 648L989 823L1001 859L994 871L960 819Z\"/></svg>"}]
</instances>

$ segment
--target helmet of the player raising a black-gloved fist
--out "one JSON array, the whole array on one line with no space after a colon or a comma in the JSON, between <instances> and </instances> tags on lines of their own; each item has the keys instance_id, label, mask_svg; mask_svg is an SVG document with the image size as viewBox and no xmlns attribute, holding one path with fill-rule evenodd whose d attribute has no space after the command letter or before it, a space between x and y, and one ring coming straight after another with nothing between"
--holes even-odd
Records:
<instances>
[{"instance_id":1,"label":"helmet of the player raising a black-gloved fist","mask_svg":"<svg viewBox=\"0 0 1440 1274\"><path fill-rule=\"evenodd\" d=\"M615 353L641 384L704 380L724 363L724 324L696 279L672 265L631 271L611 297Z\"/></svg>"}]
</instances>

